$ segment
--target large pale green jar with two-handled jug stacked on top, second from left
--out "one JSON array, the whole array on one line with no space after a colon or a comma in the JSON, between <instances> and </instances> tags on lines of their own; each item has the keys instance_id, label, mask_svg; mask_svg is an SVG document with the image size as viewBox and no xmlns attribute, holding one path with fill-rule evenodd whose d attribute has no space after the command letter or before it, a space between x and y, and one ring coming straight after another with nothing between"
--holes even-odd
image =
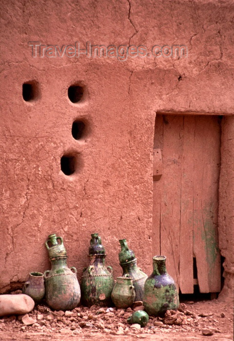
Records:
<instances>
[{"instance_id":1,"label":"large pale green jar with two-handled jug stacked on top, second from left","mask_svg":"<svg viewBox=\"0 0 234 341\"><path fill-rule=\"evenodd\" d=\"M54 235L49 236L51 241ZM57 239L59 239L58 237ZM62 241L62 239L60 238ZM65 247L55 248L52 243L52 250L49 248L49 255L66 253ZM48 246L46 242L46 247ZM63 243L61 244L63 245ZM61 246L60 245L60 246ZM49 246L50 247L50 246ZM57 252L58 251L58 252ZM67 266L67 256L59 255L50 257L51 270L44 272L46 303L55 310L72 310L80 301L80 287L77 279L77 269Z\"/></svg>"}]
</instances>

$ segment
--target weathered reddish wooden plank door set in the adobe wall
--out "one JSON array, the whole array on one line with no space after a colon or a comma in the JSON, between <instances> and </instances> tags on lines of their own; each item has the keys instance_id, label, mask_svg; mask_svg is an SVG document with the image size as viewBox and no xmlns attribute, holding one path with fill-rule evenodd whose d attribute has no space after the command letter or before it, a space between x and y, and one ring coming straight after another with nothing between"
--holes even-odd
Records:
<instances>
[{"instance_id":1,"label":"weathered reddish wooden plank door set in the adobe wall","mask_svg":"<svg viewBox=\"0 0 234 341\"><path fill-rule=\"evenodd\" d=\"M153 171L153 254L182 293L219 292L220 118L157 115Z\"/></svg>"}]
</instances>

